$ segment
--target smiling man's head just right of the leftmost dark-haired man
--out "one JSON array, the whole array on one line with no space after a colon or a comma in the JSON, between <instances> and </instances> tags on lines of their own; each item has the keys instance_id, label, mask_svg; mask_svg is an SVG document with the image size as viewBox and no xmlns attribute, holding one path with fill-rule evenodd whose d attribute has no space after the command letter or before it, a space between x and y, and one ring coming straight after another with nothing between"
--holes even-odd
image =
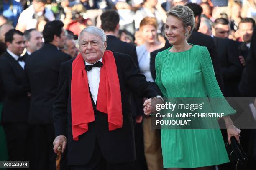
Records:
<instances>
[{"instance_id":1,"label":"smiling man's head just right of the leftmost dark-haired man","mask_svg":"<svg viewBox=\"0 0 256 170\"><path fill-rule=\"evenodd\" d=\"M31 55L32 52L39 50L43 45L41 33L34 28L24 32L24 39L27 50L25 55Z\"/></svg>"}]
</instances>

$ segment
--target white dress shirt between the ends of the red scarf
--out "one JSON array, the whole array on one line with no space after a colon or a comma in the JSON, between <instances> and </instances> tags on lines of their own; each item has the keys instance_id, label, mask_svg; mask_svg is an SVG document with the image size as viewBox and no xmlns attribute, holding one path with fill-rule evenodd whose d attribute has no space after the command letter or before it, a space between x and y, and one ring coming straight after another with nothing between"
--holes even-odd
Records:
<instances>
[{"instance_id":1,"label":"white dress shirt between the ends of the red scarf","mask_svg":"<svg viewBox=\"0 0 256 170\"><path fill-rule=\"evenodd\" d=\"M102 58L98 61L102 61ZM92 64L85 62L85 65L92 65ZM92 99L96 104L99 84L100 84L100 67L92 67L92 70L86 71L86 72L87 72L88 84L92 94Z\"/></svg>"}]
</instances>

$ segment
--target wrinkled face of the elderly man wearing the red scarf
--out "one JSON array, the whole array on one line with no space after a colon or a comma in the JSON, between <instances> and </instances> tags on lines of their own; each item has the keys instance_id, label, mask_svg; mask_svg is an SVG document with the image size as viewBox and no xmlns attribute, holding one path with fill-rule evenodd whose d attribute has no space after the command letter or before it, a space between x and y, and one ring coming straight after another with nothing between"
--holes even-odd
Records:
<instances>
[{"instance_id":1,"label":"wrinkled face of the elderly man wearing the red scarf","mask_svg":"<svg viewBox=\"0 0 256 170\"><path fill-rule=\"evenodd\" d=\"M84 32L79 40L79 47L83 59L93 64L103 57L107 43L102 42L100 36Z\"/></svg>"}]
</instances>

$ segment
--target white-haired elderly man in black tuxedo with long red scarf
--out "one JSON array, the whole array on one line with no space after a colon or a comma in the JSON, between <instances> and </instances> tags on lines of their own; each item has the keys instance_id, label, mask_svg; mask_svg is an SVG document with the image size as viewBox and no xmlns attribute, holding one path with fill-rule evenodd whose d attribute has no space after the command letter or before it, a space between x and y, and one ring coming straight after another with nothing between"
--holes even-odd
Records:
<instances>
[{"instance_id":1,"label":"white-haired elderly man in black tuxedo with long red scarf","mask_svg":"<svg viewBox=\"0 0 256 170\"><path fill-rule=\"evenodd\" d=\"M161 91L138 73L130 56L105 50L102 29L85 28L78 42L81 53L60 68L54 152L59 146L63 152L68 143L72 170L131 170L135 146L129 94L151 98Z\"/></svg>"}]
</instances>

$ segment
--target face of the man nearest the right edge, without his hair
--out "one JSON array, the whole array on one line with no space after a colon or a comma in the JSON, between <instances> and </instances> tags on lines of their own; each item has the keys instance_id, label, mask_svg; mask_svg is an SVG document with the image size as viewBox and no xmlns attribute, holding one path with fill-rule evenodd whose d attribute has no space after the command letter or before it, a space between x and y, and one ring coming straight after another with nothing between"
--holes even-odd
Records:
<instances>
[{"instance_id":1,"label":"face of the man nearest the right edge, without his hair","mask_svg":"<svg viewBox=\"0 0 256 170\"><path fill-rule=\"evenodd\" d=\"M240 23L239 32L241 34L241 38L243 39L243 42L246 42L246 43L251 42L251 37L253 34L253 23Z\"/></svg>"}]
</instances>

